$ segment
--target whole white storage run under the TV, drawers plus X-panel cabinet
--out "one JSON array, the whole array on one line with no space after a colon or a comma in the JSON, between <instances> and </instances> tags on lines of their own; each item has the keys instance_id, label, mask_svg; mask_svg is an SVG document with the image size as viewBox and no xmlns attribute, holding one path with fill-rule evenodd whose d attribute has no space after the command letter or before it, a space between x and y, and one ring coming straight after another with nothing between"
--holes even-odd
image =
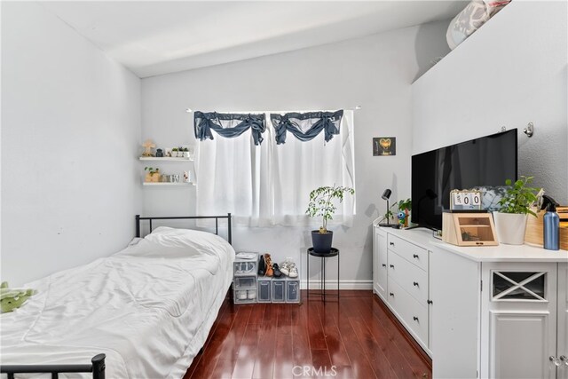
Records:
<instances>
[{"instance_id":1,"label":"whole white storage run under the TV, drawers plus X-panel cabinet","mask_svg":"<svg viewBox=\"0 0 568 379\"><path fill-rule=\"evenodd\" d=\"M373 262L375 294L434 378L568 379L568 251L458 247L375 225Z\"/></svg>"}]
</instances>

